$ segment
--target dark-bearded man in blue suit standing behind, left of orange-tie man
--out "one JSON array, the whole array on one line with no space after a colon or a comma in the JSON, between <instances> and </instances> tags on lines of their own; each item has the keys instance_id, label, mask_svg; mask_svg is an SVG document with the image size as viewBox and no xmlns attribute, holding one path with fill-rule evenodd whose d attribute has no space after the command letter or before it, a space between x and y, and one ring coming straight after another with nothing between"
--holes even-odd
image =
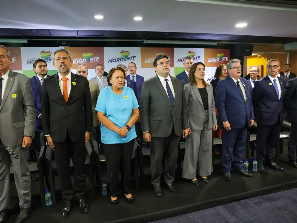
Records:
<instances>
[{"instance_id":1,"label":"dark-bearded man in blue suit standing behind, left of orange-tie man","mask_svg":"<svg viewBox=\"0 0 297 223\"><path fill-rule=\"evenodd\" d=\"M41 92L41 84L43 80L47 77L48 67L46 62L43 59L37 59L33 63L33 70L36 73L36 76L30 78L31 87L33 90L34 96L34 105L36 111L35 117L35 130L42 131L42 123L41 123L41 101L40 101L40 92ZM38 154L39 156L39 154ZM39 180L39 174L37 173L33 179L34 181Z\"/></svg>"}]
</instances>

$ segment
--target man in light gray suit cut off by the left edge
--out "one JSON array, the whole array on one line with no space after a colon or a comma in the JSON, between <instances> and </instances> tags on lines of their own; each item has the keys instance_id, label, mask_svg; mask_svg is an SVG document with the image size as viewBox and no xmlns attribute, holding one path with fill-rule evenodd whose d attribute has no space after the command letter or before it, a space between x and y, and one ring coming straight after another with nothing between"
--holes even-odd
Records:
<instances>
[{"instance_id":1,"label":"man in light gray suit cut off by the left edge","mask_svg":"<svg viewBox=\"0 0 297 223\"><path fill-rule=\"evenodd\" d=\"M10 159L18 191L20 214L24 222L31 205L29 146L35 133L35 107L29 77L9 69L10 51L0 45L0 222L9 217Z\"/></svg>"}]
</instances>

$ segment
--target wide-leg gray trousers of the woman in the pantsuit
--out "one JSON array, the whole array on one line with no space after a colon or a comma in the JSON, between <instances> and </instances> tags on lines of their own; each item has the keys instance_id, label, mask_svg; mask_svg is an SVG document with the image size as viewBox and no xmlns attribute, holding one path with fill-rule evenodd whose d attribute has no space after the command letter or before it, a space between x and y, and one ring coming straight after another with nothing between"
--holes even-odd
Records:
<instances>
[{"instance_id":1,"label":"wide-leg gray trousers of the woman in the pantsuit","mask_svg":"<svg viewBox=\"0 0 297 223\"><path fill-rule=\"evenodd\" d=\"M207 112L208 114L208 112ZM184 167L182 177L194 179L199 176L207 177L212 172L212 129L208 129L208 115L204 112L202 130L191 130L186 138Z\"/></svg>"}]
</instances>

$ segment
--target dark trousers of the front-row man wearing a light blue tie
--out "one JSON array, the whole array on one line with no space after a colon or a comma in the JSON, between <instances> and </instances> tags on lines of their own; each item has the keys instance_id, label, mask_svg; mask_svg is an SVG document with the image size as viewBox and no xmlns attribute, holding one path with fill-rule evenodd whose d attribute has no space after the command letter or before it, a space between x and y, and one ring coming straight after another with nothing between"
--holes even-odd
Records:
<instances>
[{"instance_id":1,"label":"dark trousers of the front-row man wearing a light blue tie","mask_svg":"<svg viewBox=\"0 0 297 223\"><path fill-rule=\"evenodd\" d=\"M261 125L257 123L257 160L264 164L265 160L273 161L274 150L277 147L281 130L280 119L274 125Z\"/></svg>"}]
</instances>

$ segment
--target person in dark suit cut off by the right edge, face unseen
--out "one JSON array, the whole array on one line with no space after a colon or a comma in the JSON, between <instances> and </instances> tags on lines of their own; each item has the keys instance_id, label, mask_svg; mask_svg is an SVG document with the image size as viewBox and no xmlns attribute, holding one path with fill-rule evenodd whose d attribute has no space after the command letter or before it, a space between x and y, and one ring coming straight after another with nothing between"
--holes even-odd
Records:
<instances>
[{"instance_id":1,"label":"person in dark suit cut off by the right edge, face unseen","mask_svg":"<svg viewBox=\"0 0 297 223\"><path fill-rule=\"evenodd\" d=\"M287 82L284 93L284 106L291 121L291 132L288 139L289 163L297 168L297 78Z\"/></svg>"}]
</instances>

